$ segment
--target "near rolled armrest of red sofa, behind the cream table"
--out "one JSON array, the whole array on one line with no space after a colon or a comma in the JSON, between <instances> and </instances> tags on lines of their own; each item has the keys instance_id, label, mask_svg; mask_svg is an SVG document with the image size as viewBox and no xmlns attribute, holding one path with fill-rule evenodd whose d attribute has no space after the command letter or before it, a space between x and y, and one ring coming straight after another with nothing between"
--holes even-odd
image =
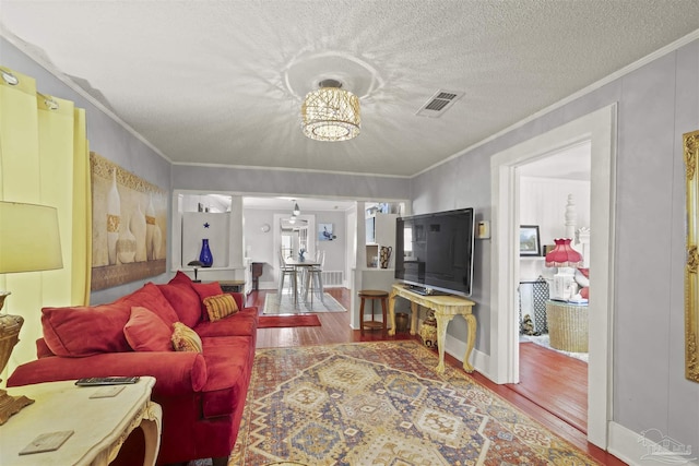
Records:
<instances>
[{"instance_id":1,"label":"near rolled armrest of red sofa, behind the cream table","mask_svg":"<svg viewBox=\"0 0 699 466\"><path fill-rule=\"evenodd\" d=\"M87 377L152 375L159 395L201 392L206 383L206 362L199 353L106 353L84 358L51 356L22 365L8 386Z\"/></svg>"}]
</instances>

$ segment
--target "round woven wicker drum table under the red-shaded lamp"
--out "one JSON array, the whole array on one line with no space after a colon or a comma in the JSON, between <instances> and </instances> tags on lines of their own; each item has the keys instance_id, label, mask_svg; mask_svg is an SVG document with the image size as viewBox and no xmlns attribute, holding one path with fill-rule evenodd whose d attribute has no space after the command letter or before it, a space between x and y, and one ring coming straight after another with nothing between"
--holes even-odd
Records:
<instances>
[{"instance_id":1,"label":"round woven wicker drum table under the red-shaded lamp","mask_svg":"<svg viewBox=\"0 0 699 466\"><path fill-rule=\"evenodd\" d=\"M552 348L588 353L588 307L546 301Z\"/></svg>"}]
</instances>

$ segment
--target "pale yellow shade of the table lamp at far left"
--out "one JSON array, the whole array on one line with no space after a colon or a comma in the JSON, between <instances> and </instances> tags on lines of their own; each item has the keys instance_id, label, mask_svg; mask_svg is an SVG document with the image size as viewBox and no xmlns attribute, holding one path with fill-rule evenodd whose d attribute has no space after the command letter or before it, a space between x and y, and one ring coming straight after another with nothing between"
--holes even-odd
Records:
<instances>
[{"instance_id":1,"label":"pale yellow shade of the table lamp at far left","mask_svg":"<svg viewBox=\"0 0 699 466\"><path fill-rule=\"evenodd\" d=\"M0 201L0 273L62 266L56 207Z\"/></svg>"}]
</instances>

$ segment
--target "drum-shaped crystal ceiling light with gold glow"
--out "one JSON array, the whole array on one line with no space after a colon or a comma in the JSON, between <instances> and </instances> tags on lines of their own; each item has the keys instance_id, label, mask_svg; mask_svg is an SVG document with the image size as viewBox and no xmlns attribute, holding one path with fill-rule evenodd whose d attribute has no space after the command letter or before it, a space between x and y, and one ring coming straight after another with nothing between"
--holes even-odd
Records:
<instances>
[{"instance_id":1,"label":"drum-shaped crystal ceiling light with gold glow","mask_svg":"<svg viewBox=\"0 0 699 466\"><path fill-rule=\"evenodd\" d=\"M301 105L304 134L316 141L347 141L362 128L359 98L336 80L323 80Z\"/></svg>"}]
</instances>

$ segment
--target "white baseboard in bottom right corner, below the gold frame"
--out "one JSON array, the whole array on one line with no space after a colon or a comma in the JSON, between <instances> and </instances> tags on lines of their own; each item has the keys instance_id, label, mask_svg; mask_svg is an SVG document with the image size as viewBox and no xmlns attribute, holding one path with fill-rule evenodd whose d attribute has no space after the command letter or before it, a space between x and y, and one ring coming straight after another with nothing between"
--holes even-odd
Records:
<instances>
[{"instance_id":1,"label":"white baseboard in bottom right corner, below the gold frame","mask_svg":"<svg viewBox=\"0 0 699 466\"><path fill-rule=\"evenodd\" d=\"M653 432L660 434L661 432ZM653 440L659 440L657 435L644 435L616 423L609 422L609 447L608 451L617 458L631 466L667 466L686 465L698 466L697 454L667 454L662 455L663 450ZM670 439L670 441L673 441ZM679 445L682 446L682 445ZM690 445L687 449L691 450Z\"/></svg>"}]
</instances>

